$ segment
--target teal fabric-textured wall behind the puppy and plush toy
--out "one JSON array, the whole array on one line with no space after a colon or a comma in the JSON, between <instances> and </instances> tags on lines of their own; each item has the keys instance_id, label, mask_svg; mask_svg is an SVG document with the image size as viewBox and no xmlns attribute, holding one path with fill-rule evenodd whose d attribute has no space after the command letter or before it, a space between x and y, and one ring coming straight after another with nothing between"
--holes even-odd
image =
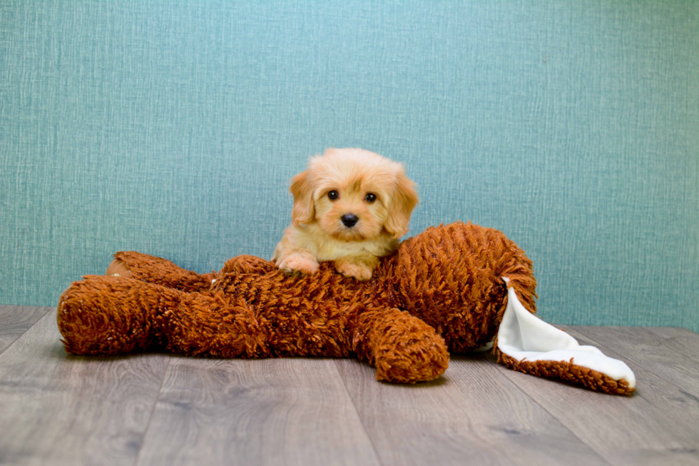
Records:
<instances>
[{"instance_id":1,"label":"teal fabric-textured wall behind the puppy and plush toy","mask_svg":"<svg viewBox=\"0 0 699 466\"><path fill-rule=\"evenodd\" d=\"M0 303L269 258L328 146L504 231L553 323L699 330L699 2L3 1Z\"/></svg>"}]
</instances>

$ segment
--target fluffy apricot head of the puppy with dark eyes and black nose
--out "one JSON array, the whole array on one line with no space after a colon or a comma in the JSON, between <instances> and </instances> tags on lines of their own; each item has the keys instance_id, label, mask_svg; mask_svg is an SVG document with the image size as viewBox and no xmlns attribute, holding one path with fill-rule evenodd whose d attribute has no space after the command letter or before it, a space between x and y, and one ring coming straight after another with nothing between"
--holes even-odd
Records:
<instances>
[{"instance_id":1,"label":"fluffy apricot head of the puppy with dark eyes and black nose","mask_svg":"<svg viewBox=\"0 0 699 466\"><path fill-rule=\"evenodd\" d=\"M356 241L408 231L418 202L401 163L362 149L327 149L292 178L294 226L317 221L333 238Z\"/></svg>"}]
</instances>

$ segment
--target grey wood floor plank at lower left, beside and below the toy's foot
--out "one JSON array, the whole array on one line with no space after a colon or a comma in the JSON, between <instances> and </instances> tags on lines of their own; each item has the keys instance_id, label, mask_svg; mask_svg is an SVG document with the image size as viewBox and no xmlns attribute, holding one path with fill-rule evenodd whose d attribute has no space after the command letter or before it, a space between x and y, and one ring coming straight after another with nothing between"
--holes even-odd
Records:
<instances>
[{"instance_id":1,"label":"grey wood floor plank at lower left, beside and below the toy's foot","mask_svg":"<svg viewBox=\"0 0 699 466\"><path fill-rule=\"evenodd\" d=\"M65 353L56 312L0 355L0 462L133 465L165 355Z\"/></svg>"}]
</instances>

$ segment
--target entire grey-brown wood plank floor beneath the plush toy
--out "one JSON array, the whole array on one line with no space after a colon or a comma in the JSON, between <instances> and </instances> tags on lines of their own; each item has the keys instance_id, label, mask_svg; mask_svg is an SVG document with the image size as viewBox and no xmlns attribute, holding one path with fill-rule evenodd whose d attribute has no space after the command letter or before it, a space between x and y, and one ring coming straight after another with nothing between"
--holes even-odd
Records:
<instances>
[{"instance_id":1,"label":"entire grey-brown wood plank floor beneath the plush toy","mask_svg":"<svg viewBox=\"0 0 699 466\"><path fill-rule=\"evenodd\" d=\"M0 464L699 465L699 335L563 327L636 373L602 395L456 356L415 386L356 360L85 358L0 306Z\"/></svg>"}]
</instances>

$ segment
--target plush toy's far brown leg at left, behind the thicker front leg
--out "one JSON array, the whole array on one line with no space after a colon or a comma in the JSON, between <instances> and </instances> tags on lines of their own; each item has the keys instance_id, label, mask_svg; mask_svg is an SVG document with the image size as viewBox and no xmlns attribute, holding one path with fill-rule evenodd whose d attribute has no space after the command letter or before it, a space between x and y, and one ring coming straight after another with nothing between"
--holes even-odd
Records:
<instances>
[{"instance_id":1,"label":"plush toy's far brown leg at left, behind the thicker front leg","mask_svg":"<svg viewBox=\"0 0 699 466\"><path fill-rule=\"evenodd\" d=\"M216 278L216 273L195 273L175 265L170 260L136 251L114 254L114 260L105 275L114 273L121 277L136 278L147 283L188 292L208 290L212 280Z\"/></svg>"}]
</instances>

